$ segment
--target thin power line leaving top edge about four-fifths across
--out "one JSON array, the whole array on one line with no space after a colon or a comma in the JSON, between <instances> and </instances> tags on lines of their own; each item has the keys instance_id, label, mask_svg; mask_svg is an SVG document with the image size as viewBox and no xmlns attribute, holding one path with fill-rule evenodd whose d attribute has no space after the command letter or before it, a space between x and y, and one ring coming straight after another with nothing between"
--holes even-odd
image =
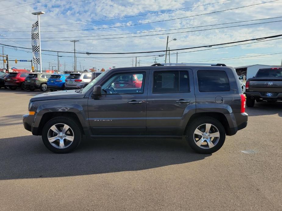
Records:
<instances>
[{"instance_id":1,"label":"thin power line leaving top edge about four-fifths across","mask_svg":"<svg viewBox=\"0 0 282 211\"><path fill-rule=\"evenodd\" d=\"M127 16L127 17L120 17L120 18L112 18L112 19L96 20L96 21L86 21L86 22L77 22L77 23L67 23L67 24L46 25L46 26L40 26L40 27L48 27L48 26L66 26L66 25L74 25L74 24L81 24L81 23L93 23L93 22L120 20L120 19L133 18L133 17L140 17L140 16L147 16L147 15L153 15L153 14L159 14L159 13L165 13L165 12L173 12L173 11L183 10L183 9L191 9L191 8L195 8L195 7L206 6L206 5L212 5L212 4L222 3L222 2L230 2L230 1L233 1L233 0L226 0L226 1L220 1L220 2L213 2L213 3L202 4L202 5L192 6L192 7L185 7L185 8L180 8L180 9L166 10L166 11L162 11L162 12L152 12L152 13L147 13L147 14L142 14L142 15L136 15L136 16ZM30 12L30 11L28 11L28 12ZM23 28L30 28L30 27L29 27L29 26L28 26L28 27L14 27L14 28L6 28L6 29L23 29ZM1 29L1 28L0 28L0 29Z\"/></svg>"}]
</instances>

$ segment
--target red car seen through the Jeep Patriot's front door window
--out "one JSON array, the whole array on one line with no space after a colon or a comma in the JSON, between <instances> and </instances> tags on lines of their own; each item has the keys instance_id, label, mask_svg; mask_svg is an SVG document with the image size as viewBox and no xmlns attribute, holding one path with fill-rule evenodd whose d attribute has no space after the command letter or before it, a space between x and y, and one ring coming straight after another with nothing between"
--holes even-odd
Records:
<instances>
[{"instance_id":1,"label":"red car seen through the Jeep Patriot's front door window","mask_svg":"<svg viewBox=\"0 0 282 211\"><path fill-rule=\"evenodd\" d=\"M143 80L143 74L137 75L121 75L114 81L114 88L141 88Z\"/></svg>"}]
</instances>

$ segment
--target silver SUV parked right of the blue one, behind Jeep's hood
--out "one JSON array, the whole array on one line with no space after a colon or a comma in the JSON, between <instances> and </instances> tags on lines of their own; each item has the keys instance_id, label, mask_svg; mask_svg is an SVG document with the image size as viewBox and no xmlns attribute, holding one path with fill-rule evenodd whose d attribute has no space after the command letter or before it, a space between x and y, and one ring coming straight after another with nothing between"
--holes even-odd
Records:
<instances>
[{"instance_id":1,"label":"silver SUV parked right of the blue one, behind Jeep's hood","mask_svg":"<svg viewBox=\"0 0 282 211\"><path fill-rule=\"evenodd\" d=\"M91 81L91 73L71 73L65 80L66 89L84 88Z\"/></svg>"}]
</instances>

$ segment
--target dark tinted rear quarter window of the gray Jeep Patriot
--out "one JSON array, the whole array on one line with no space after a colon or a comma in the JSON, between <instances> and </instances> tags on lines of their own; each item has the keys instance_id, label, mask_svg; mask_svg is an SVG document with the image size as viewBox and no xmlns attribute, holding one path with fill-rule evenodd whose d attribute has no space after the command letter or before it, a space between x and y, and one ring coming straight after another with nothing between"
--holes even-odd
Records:
<instances>
[{"instance_id":1,"label":"dark tinted rear quarter window of the gray Jeep Patriot","mask_svg":"<svg viewBox=\"0 0 282 211\"><path fill-rule=\"evenodd\" d=\"M198 70L200 92L228 92L230 85L225 71Z\"/></svg>"}]
</instances>

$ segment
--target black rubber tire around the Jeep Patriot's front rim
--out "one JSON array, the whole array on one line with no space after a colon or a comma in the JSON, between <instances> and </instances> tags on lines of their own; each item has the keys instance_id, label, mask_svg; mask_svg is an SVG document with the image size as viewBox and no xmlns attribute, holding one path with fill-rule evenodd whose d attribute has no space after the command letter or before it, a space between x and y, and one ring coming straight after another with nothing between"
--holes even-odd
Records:
<instances>
[{"instance_id":1,"label":"black rubber tire around the Jeep Patriot's front rim","mask_svg":"<svg viewBox=\"0 0 282 211\"><path fill-rule=\"evenodd\" d=\"M52 144L50 144L48 140L49 129L53 125L59 124L59 123L67 124L68 126L70 126L71 130L73 130L73 136L74 136L73 142L68 147L63 148L63 149L54 147ZM74 119L71 119L71 118L59 116L59 117L50 119L42 129L43 143L48 148L48 150L54 153L69 153L73 151L74 149L76 149L82 140L82 131L80 128L81 127L78 125L78 123Z\"/></svg>"}]
</instances>

